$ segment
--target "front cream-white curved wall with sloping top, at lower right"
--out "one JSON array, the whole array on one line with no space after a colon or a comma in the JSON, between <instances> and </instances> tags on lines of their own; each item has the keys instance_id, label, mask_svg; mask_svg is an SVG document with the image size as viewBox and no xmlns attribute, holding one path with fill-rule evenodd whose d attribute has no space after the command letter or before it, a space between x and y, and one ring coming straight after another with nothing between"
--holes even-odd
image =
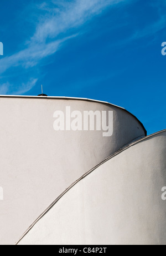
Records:
<instances>
[{"instance_id":1,"label":"front cream-white curved wall with sloping top, at lower right","mask_svg":"<svg viewBox=\"0 0 166 256\"><path fill-rule=\"evenodd\" d=\"M19 242L166 244L166 130L128 147L73 186Z\"/></svg>"}]
</instances>

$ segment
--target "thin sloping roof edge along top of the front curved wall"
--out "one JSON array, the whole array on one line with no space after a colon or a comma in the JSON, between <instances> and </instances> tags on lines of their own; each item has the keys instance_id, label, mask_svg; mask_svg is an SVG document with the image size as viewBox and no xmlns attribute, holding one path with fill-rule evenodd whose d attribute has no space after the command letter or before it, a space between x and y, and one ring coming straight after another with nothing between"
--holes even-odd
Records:
<instances>
[{"instance_id":1,"label":"thin sloping roof edge along top of the front curved wall","mask_svg":"<svg viewBox=\"0 0 166 256\"><path fill-rule=\"evenodd\" d=\"M166 132L165 130L162 131L158 131L155 132L154 134L148 135L146 137L142 137L141 139L138 139L137 141L131 142L131 144L128 144L127 146L124 146L122 149L116 151L115 153L113 153L111 156L108 156L105 160L103 160L100 164L96 165L94 168L92 168L91 170L87 171L87 173L85 173L84 175L82 175L79 179L77 179L76 181L74 181L74 183L72 183L69 188L67 188L65 191L63 191L63 193L61 193L58 198L55 199L55 201L48 207L46 208L46 210L34 221L34 223L32 225L30 225L30 227L25 231L25 233L22 235L22 237L20 237L20 239L18 240L17 243L15 243L15 245L18 245L18 243L25 237L25 235L27 235L29 233L29 231L34 227L35 224L38 223L38 221L40 219L43 218L43 216L48 213L48 211L53 208L53 206L72 188L74 187L77 183L79 183L79 181L81 181L82 179L84 179L87 175L91 174L93 171L95 171L98 167L100 167L102 164L105 164L108 160L112 159L114 156L120 154L121 152L127 150L129 147L138 144L141 141L144 140L148 140L151 137L154 137L155 135L158 134L162 134L163 132Z\"/></svg>"}]
</instances>

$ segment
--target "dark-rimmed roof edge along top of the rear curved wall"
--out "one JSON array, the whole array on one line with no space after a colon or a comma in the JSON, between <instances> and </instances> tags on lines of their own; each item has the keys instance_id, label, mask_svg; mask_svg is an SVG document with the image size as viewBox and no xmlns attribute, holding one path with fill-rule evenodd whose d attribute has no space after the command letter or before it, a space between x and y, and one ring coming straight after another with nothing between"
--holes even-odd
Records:
<instances>
[{"instance_id":1,"label":"dark-rimmed roof edge along top of the rear curved wall","mask_svg":"<svg viewBox=\"0 0 166 256\"><path fill-rule=\"evenodd\" d=\"M89 102L97 102L97 103L101 103L101 104L105 104L105 105L110 105L110 106L114 106L114 107L118 107L119 109L125 110L128 114L132 115L138 122L139 124L142 126L145 136L147 136L147 130L145 129L144 125L142 124L141 121L139 121L139 119L133 115L131 112L129 112L128 110L124 109L123 107L111 104L110 102L107 101L100 101L100 100L92 100L92 99L87 99L87 98L77 98L77 97L65 97L65 96L25 96L25 95L0 95L0 98L21 98L21 99L53 99L53 100L80 100L80 101L89 101Z\"/></svg>"}]
</instances>

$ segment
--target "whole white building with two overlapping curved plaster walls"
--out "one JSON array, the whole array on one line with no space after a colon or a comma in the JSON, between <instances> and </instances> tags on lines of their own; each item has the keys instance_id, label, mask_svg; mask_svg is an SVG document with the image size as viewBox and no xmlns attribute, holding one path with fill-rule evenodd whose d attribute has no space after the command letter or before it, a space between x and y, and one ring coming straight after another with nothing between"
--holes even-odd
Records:
<instances>
[{"instance_id":1,"label":"whole white building with two overlapping curved plaster walls","mask_svg":"<svg viewBox=\"0 0 166 256\"><path fill-rule=\"evenodd\" d=\"M0 106L0 244L166 243L166 131L88 99Z\"/></svg>"}]
</instances>

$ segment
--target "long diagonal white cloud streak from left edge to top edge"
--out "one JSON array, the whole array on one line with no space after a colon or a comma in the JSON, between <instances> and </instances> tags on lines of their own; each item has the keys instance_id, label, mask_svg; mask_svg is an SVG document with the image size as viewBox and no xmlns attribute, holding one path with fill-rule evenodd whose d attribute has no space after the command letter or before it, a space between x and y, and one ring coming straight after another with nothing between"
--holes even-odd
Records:
<instances>
[{"instance_id":1,"label":"long diagonal white cloud streak from left edge to top edge","mask_svg":"<svg viewBox=\"0 0 166 256\"><path fill-rule=\"evenodd\" d=\"M59 46L66 40L79 34L64 37L61 40L55 38L60 33L66 33L69 29L81 26L95 14L100 13L110 4L117 4L123 0L92 0L84 2L77 0L74 4L68 4L64 11L61 11L58 17L46 18L46 21L38 24L33 37L27 44L27 47L14 55L4 57L0 61L0 73L2 74L10 67L23 66L24 68L38 65L43 58L53 55L59 50ZM54 39L53 42L46 43L48 38Z\"/></svg>"}]
</instances>

